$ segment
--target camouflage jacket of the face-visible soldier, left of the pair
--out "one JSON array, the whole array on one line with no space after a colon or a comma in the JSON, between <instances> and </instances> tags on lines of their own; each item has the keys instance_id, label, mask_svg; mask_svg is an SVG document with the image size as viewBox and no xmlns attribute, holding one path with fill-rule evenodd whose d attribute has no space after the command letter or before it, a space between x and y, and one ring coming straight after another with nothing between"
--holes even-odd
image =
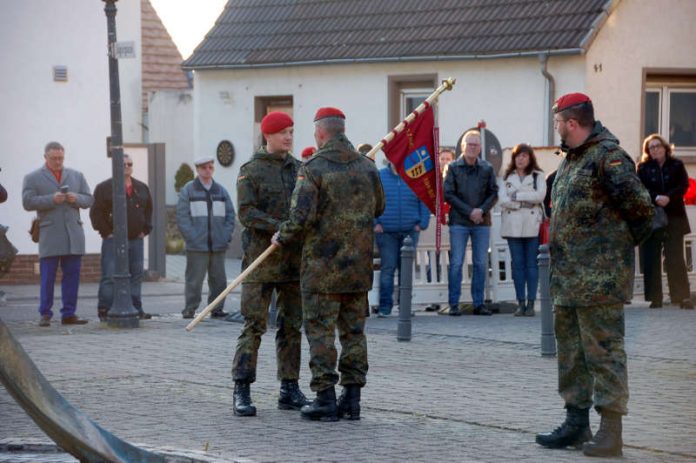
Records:
<instances>
[{"instance_id":1,"label":"camouflage jacket of the face-visible soldier, left of the pair","mask_svg":"<svg viewBox=\"0 0 696 463\"><path fill-rule=\"evenodd\" d=\"M261 148L240 167L237 202L239 221L244 226L242 269L271 245L271 237L287 220L300 164L289 153L268 153ZM245 281L299 281L300 252L297 244L277 249Z\"/></svg>"}]
</instances>

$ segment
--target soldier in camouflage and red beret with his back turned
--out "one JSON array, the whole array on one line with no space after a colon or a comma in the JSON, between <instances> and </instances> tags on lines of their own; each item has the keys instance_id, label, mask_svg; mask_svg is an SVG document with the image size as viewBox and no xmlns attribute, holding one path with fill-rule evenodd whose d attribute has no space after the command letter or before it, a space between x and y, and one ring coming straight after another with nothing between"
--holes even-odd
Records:
<instances>
[{"instance_id":1,"label":"soldier in camouflage and red beret with his back turned","mask_svg":"<svg viewBox=\"0 0 696 463\"><path fill-rule=\"evenodd\" d=\"M302 303L309 341L313 391L304 418L360 418L360 388L367 374L365 312L372 287L372 221L384 210L384 192L374 163L344 135L345 116L321 108L315 116L319 150L300 168L290 219L274 244L303 241ZM336 402L336 328L341 342L338 370L343 393Z\"/></svg>"}]
</instances>

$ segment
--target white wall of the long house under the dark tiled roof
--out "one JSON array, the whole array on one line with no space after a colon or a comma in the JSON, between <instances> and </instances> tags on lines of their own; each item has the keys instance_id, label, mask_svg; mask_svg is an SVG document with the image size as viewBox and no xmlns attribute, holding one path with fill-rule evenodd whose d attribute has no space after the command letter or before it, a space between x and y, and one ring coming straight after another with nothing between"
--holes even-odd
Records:
<instances>
[{"instance_id":1,"label":"white wall of the long house under the dark tiled roof","mask_svg":"<svg viewBox=\"0 0 696 463\"><path fill-rule=\"evenodd\" d=\"M584 59L552 57L549 71L557 91L584 90ZM387 63L302 66L271 69L197 71L194 73L194 153L214 155L230 140L236 159L217 165L215 176L236 203L239 166L258 143L254 140L254 99L293 96L294 152L314 145L314 113L321 106L341 108L347 136L354 143L376 144L388 126L388 78L437 73L454 77L451 92L440 98L440 142L454 145L461 133L485 119L503 147L520 142L545 144L546 80L537 57L439 63Z\"/></svg>"}]
</instances>

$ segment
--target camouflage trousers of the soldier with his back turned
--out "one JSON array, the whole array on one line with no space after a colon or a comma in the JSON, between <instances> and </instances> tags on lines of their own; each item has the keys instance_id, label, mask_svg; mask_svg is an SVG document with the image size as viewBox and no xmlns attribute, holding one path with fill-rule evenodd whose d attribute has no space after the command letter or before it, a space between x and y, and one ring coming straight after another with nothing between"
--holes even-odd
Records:
<instances>
[{"instance_id":1,"label":"camouflage trousers of the soldier with his back turned","mask_svg":"<svg viewBox=\"0 0 696 463\"><path fill-rule=\"evenodd\" d=\"M309 341L312 391L319 392L338 382L336 373L336 328L341 342L338 371L341 384L365 385L367 339L365 311L367 293L302 293L304 327Z\"/></svg>"}]
</instances>

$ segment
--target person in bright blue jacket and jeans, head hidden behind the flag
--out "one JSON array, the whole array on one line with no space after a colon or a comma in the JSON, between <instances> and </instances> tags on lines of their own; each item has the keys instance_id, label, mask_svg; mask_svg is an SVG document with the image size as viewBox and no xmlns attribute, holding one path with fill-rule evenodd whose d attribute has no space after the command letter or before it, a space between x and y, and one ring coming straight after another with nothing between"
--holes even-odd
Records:
<instances>
[{"instance_id":1,"label":"person in bright blue jacket and jeans, head hidden behind the flag","mask_svg":"<svg viewBox=\"0 0 696 463\"><path fill-rule=\"evenodd\" d=\"M380 169L379 176L386 207L384 213L375 219L380 256L378 316L387 317L394 305L394 271L401 268L401 246L407 236L413 240L414 247L418 244L420 231L428 228L430 211L399 176L391 162Z\"/></svg>"}]
</instances>

